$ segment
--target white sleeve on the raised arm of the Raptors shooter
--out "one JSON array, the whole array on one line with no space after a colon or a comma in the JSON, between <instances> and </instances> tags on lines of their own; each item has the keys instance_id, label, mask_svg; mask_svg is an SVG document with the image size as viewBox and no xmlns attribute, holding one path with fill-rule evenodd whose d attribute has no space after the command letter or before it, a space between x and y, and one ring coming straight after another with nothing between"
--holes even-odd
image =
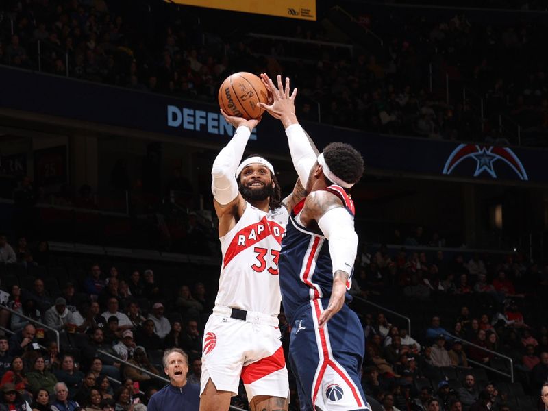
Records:
<instances>
[{"instance_id":1,"label":"white sleeve on the raised arm of the Raptors shooter","mask_svg":"<svg viewBox=\"0 0 548 411\"><path fill-rule=\"evenodd\" d=\"M249 136L251 136L251 130L248 127L238 127L232 139L213 162L211 191L215 201L223 206L238 196L238 182L235 174Z\"/></svg>"}]
</instances>

